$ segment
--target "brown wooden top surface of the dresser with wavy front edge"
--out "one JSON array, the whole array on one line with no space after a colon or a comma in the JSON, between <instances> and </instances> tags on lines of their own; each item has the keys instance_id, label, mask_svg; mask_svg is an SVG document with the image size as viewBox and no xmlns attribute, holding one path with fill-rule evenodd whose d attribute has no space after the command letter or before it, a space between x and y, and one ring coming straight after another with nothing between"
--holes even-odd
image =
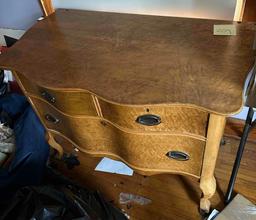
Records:
<instances>
[{"instance_id":1,"label":"brown wooden top surface of the dresser with wavy front edge","mask_svg":"<svg viewBox=\"0 0 256 220\"><path fill-rule=\"evenodd\" d=\"M186 104L229 115L242 107L255 25L214 36L230 21L57 10L0 55L0 66L57 89L119 104Z\"/></svg>"}]
</instances>

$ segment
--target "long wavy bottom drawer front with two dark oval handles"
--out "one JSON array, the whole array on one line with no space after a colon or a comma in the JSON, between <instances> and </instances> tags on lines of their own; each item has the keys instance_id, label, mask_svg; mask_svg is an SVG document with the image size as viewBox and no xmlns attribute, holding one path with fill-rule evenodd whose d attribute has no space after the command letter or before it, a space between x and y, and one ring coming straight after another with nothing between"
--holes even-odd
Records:
<instances>
[{"instance_id":1,"label":"long wavy bottom drawer front with two dark oval handles","mask_svg":"<svg viewBox=\"0 0 256 220\"><path fill-rule=\"evenodd\" d=\"M97 117L70 117L32 98L46 127L85 153L121 159L138 172L200 176L205 141L161 133L128 133ZM46 115L51 115L48 117Z\"/></svg>"}]
</instances>

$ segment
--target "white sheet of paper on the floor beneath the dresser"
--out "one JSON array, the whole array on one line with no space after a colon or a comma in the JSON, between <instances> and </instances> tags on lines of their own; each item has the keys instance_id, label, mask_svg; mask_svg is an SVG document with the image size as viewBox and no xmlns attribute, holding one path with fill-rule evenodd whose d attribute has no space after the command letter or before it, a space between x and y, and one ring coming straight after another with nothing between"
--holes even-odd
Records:
<instances>
[{"instance_id":1,"label":"white sheet of paper on the floor beneath the dresser","mask_svg":"<svg viewBox=\"0 0 256 220\"><path fill-rule=\"evenodd\" d=\"M107 173L117 173L127 176L133 175L133 170L121 161L104 157L96 166L95 170Z\"/></svg>"}]
</instances>

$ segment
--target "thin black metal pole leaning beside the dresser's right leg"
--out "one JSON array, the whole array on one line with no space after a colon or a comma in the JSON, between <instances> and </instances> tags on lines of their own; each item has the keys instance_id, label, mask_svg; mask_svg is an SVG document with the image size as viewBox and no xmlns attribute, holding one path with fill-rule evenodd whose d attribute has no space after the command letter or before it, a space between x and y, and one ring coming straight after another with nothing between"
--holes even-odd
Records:
<instances>
[{"instance_id":1,"label":"thin black metal pole leaning beside the dresser's right leg","mask_svg":"<svg viewBox=\"0 0 256 220\"><path fill-rule=\"evenodd\" d=\"M227 189L226 196L225 196L226 204L228 204L232 199L232 192L233 192L234 185L236 182L236 176L238 173L238 169L239 169L240 162L241 162L243 152L244 152L244 146L246 144L249 132L256 125L256 119L253 121L253 115L254 115L253 108L250 107L248 110L248 113L247 113L244 129L243 129L243 134L242 134L240 144L239 144L239 147L237 150L236 160L235 160L235 163L233 166L233 170L232 170L231 177L230 177L229 184L228 184L228 189Z\"/></svg>"}]
</instances>

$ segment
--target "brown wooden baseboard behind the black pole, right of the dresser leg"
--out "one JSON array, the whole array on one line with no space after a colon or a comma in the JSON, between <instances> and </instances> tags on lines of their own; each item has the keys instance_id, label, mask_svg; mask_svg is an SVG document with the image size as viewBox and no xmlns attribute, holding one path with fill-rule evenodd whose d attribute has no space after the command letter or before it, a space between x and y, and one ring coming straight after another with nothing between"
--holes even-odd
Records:
<instances>
[{"instance_id":1,"label":"brown wooden baseboard behind the black pole, right of the dresser leg","mask_svg":"<svg viewBox=\"0 0 256 220\"><path fill-rule=\"evenodd\" d=\"M244 120L228 118L224 136L240 139L244 129ZM256 142L256 129L252 129L248 137L249 141Z\"/></svg>"}]
</instances>

